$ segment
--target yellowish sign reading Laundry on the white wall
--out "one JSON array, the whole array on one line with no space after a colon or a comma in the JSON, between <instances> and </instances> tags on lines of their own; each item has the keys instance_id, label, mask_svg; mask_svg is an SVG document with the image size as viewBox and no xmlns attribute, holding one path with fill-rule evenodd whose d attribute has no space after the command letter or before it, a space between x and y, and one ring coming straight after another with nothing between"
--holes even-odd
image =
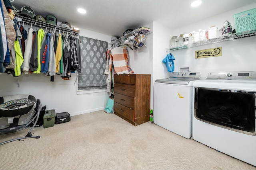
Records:
<instances>
[{"instance_id":1,"label":"yellowish sign reading Laundry on the white wall","mask_svg":"<svg viewBox=\"0 0 256 170\"><path fill-rule=\"evenodd\" d=\"M195 56L196 56L196 59L222 56L222 47L196 51Z\"/></svg>"}]
</instances>

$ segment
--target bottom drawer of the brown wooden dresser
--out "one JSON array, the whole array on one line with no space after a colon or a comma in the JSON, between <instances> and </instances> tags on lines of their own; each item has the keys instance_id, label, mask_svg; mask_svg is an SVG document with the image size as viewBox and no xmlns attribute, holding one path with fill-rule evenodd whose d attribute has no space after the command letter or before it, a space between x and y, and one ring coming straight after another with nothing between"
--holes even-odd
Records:
<instances>
[{"instance_id":1,"label":"bottom drawer of the brown wooden dresser","mask_svg":"<svg viewBox=\"0 0 256 170\"><path fill-rule=\"evenodd\" d=\"M114 102L114 113L130 121L134 121L134 110Z\"/></svg>"}]
</instances>

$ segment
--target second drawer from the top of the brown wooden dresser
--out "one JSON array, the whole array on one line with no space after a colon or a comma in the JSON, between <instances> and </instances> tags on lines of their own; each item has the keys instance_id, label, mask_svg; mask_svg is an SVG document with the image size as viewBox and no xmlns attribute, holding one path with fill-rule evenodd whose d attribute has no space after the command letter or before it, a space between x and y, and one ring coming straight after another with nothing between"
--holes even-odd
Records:
<instances>
[{"instance_id":1,"label":"second drawer from the top of the brown wooden dresser","mask_svg":"<svg viewBox=\"0 0 256 170\"><path fill-rule=\"evenodd\" d=\"M130 85L130 84L115 83L115 85L114 85L114 94L116 94L116 93L123 94L123 95L130 96L130 97L134 97L135 86Z\"/></svg>"}]
</instances>

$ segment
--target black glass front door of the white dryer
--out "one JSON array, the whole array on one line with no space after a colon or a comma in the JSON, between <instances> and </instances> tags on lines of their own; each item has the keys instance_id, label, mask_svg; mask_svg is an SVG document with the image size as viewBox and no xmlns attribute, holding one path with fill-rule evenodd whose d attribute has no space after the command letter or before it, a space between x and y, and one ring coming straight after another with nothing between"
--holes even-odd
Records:
<instances>
[{"instance_id":1,"label":"black glass front door of the white dryer","mask_svg":"<svg viewBox=\"0 0 256 170\"><path fill-rule=\"evenodd\" d=\"M194 116L219 127L256 135L255 92L195 88Z\"/></svg>"}]
</instances>

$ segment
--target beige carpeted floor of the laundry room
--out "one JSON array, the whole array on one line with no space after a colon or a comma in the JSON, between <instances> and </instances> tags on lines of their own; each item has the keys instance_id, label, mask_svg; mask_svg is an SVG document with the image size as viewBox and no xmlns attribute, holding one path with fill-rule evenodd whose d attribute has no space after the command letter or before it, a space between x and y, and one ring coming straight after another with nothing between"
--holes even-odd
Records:
<instances>
[{"instance_id":1,"label":"beige carpeted floor of the laundry room","mask_svg":"<svg viewBox=\"0 0 256 170\"><path fill-rule=\"evenodd\" d=\"M0 142L28 131L0 135ZM0 146L1 170L256 170L154 123L135 127L104 111L32 133L40 138Z\"/></svg>"}]
</instances>

